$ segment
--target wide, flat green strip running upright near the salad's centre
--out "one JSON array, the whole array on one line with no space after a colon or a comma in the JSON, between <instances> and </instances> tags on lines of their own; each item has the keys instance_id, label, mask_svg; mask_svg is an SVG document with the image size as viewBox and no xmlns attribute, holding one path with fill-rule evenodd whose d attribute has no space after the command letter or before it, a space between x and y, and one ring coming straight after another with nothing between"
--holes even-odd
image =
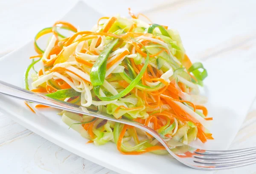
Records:
<instances>
[{"instance_id":1,"label":"wide, flat green strip running upright near the salad's centre","mask_svg":"<svg viewBox=\"0 0 256 174\"><path fill-rule=\"evenodd\" d=\"M104 83L108 55L113 47L118 43L118 40L119 39L116 39L109 43L99 54L98 59L93 64L93 67L90 71L90 80L93 86L101 86Z\"/></svg>"}]
</instances>

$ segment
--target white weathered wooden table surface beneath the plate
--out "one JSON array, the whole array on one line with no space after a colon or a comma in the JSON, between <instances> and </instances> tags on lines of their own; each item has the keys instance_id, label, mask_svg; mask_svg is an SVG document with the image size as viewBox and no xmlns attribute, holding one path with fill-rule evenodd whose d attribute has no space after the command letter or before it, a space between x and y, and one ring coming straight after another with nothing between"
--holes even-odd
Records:
<instances>
[{"instance_id":1,"label":"white weathered wooden table surface beneath the plate","mask_svg":"<svg viewBox=\"0 0 256 174\"><path fill-rule=\"evenodd\" d=\"M73 0L0 0L0 57L31 40L39 29L61 18L75 3ZM93 0L87 3L107 15L127 15L128 7L144 11L153 21L178 29L188 55L197 59L239 54L250 61L256 57L255 0ZM189 49L192 44L197 49ZM255 121L256 102L230 149L255 146ZM3 159L3 153L9 154L8 158ZM215 171L215 174L256 174L255 168L256 165L250 165ZM60 148L1 113L0 173L116 174Z\"/></svg>"}]
</instances>

